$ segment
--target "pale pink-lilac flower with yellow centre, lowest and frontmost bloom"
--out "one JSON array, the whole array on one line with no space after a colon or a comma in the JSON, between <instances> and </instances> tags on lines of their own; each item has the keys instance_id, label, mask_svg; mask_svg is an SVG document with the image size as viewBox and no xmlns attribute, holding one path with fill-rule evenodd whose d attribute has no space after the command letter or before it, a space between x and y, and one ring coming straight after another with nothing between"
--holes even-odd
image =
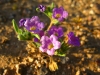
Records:
<instances>
[{"instance_id":1,"label":"pale pink-lilac flower with yellow centre, lowest and frontmost bloom","mask_svg":"<svg viewBox=\"0 0 100 75\"><path fill-rule=\"evenodd\" d=\"M58 38L55 35L51 35L50 38L48 36L41 37L41 46L39 49L42 52L46 52L48 55L54 55L55 50L61 47L61 43L58 41Z\"/></svg>"}]
</instances>

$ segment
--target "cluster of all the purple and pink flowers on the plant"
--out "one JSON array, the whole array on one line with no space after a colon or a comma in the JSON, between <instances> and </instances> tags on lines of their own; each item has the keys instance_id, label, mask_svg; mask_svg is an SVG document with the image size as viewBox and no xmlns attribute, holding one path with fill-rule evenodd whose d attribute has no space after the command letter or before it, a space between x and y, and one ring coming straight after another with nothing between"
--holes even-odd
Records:
<instances>
[{"instance_id":1,"label":"cluster of all the purple and pink flowers on the plant","mask_svg":"<svg viewBox=\"0 0 100 75\"><path fill-rule=\"evenodd\" d=\"M40 5L38 9L41 12L44 12L46 7ZM61 22L66 19L67 16L68 12L66 12L62 7L53 8L52 19L57 19L59 22ZM45 33L45 31L43 31L43 28L45 27L44 23L40 21L38 16L21 19L19 21L19 27L24 27L33 34L38 34L40 39L35 37L34 41L39 42L41 44L39 49L42 52L46 52L48 55L54 55L55 51L60 49L62 46L62 41L59 41L59 39L64 37L63 28L52 24L51 28ZM68 37L67 43L69 45L80 46L79 38L76 37L73 32L70 32L65 37Z\"/></svg>"}]
</instances>

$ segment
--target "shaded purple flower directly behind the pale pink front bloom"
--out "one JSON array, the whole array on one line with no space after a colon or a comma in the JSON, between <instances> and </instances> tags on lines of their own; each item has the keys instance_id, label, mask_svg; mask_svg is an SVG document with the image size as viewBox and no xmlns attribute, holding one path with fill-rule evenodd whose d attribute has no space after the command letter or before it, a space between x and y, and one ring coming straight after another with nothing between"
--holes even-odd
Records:
<instances>
[{"instance_id":1,"label":"shaded purple flower directly behind the pale pink front bloom","mask_svg":"<svg viewBox=\"0 0 100 75\"><path fill-rule=\"evenodd\" d=\"M58 38L63 36L63 28L62 27L57 27L57 26L52 26L50 30L48 31L49 35L55 34Z\"/></svg>"}]
</instances>

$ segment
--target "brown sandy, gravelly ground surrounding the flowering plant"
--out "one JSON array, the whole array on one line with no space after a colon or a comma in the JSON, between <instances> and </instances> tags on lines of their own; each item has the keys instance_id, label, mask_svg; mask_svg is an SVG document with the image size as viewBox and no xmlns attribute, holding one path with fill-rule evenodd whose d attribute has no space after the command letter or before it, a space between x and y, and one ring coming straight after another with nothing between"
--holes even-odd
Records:
<instances>
[{"instance_id":1,"label":"brown sandy, gravelly ground surrounding the flowering plant","mask_svg":"<svg viewBox=\"0 0 100 75\"><path fill-rule=\"evenodd\" d=\"M48 57L34 54L32 46L19 41L11 23L13 18L18 23L38 15L48 24L49 19L35 8L51 2L69 13L61 24L65 33L73 31L81 40L81 46L72 48L66 57L54 57L61 60L55 72L36 63L48 63ZM0 0L0 75L100 75L100 0Z\"/></svg>"}]
</instances>

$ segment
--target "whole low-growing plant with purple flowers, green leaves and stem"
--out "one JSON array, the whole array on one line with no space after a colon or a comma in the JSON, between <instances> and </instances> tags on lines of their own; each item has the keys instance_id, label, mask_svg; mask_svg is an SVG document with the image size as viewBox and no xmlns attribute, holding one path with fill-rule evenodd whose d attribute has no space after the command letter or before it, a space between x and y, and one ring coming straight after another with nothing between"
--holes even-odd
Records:
<instances>
[{"instance_id":1,"label":"whole low-growing plant with purple flowers, green leaves and stem","mask_svg":"<svg viewBox=\"0 0 100 75\"><path fill-rule=\"evenodd\" d=\"M38 16L23 18L19 21L19 25L13 19L13 27L19 40L30 40L37 50L50 57L48 67L51 71L55 71L58 66L53 56L66 56L71 47L80 46L80 41L73 32L64 36L64 30L60 24L67 19L68 12L63 7L55 7L52 3L50 6L39 5L36 10L50 19L47 29Z\"/></svg>"}]
</instances>

